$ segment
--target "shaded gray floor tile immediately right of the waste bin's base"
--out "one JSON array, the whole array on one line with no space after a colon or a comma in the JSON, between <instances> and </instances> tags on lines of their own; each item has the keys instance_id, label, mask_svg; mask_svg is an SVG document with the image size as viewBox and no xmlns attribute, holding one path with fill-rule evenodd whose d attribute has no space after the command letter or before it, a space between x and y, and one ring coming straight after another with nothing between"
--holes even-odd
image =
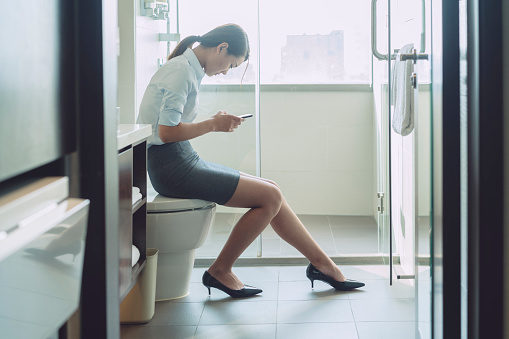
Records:
<instances>
[{"instance_id":1,"label":"shaded gray floor tile immediately right of the waste bin's base","mask_svg":"<svg viewBox=\"0 0 509 339\"><path fill-rule=\"evenodd\" d=\"M205 303L156 302L155 313L148 326L198 325Z\"/></svg>"}]
</instances>

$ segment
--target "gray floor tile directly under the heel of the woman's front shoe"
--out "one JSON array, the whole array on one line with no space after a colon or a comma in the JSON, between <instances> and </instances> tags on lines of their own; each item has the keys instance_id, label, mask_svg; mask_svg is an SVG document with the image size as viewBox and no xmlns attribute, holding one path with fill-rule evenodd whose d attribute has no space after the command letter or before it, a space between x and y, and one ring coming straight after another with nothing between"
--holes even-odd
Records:
<instances>
[{"instance_id":1,"label":"gray floor tile directly under the heel of the woman's front shoe","mask_svg":"<svg viewBox=\"0 0 509 339\"><path fill-rule=\"evenodd\" d=\"M281 281L278 300L348 299L348 293L350 292L336 291L329 285L319 282L315 282L315 287L312 289L309 280Z\"/></svg>"}]
</instances>

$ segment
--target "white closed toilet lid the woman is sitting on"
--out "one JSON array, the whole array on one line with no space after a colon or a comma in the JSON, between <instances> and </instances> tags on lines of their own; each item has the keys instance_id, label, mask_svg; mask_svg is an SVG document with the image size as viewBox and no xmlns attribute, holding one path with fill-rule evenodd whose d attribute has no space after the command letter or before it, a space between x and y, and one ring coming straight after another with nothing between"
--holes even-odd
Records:
<instances>
[{"instance_id":1,"label":"white closed toilet lid the woman is sitting on","mask_svg":"<svg viewBox=\"0 0 509 339\"><path fill-rule=\"evenodd\" d=\"M200 199L165 197L147 187L147 212L186 211L212 207L215 203Z\"/></svg>"}]
</instances>

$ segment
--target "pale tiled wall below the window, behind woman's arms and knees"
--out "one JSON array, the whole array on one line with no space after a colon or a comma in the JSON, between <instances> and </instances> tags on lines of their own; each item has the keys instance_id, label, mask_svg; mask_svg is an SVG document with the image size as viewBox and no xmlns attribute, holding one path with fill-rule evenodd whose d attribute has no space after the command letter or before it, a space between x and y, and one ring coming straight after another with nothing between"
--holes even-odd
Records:
<instances>
[{"instance_id":1,"label":"pale tiled wall below the window, behind woman's arms and knees","mask_svg":"<svg viewBox=\"0 0 509 339\"><path fill-rule=\"evenodd\" d=\"M262 91L261 174L299 214L372 215L373 100L370 91ZM253 113L254 93L200 94L200 115ZM203 158L256 173L255 121L192 141Z\"/></svg>"}]
</instances>

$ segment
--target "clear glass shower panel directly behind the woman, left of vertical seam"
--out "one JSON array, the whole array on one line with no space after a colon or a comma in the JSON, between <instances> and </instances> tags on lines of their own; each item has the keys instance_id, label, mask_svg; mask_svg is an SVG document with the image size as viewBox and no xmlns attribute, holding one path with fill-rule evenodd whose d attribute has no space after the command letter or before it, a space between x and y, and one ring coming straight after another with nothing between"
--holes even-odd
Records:
<instances>
[{"instance_id":1,"label":"clear glass shower panel directly behind the woman, left of vertical seam","mask_svg":"<svg viewBox=\"0 0 509 339\"><path fill-rule=\"evenodd\" d=\"M200 105L196 121L208 119L219 111L234 115L253 114L233 133L208 133L191 140L200 157L241 172L257 174L257 96L258 77L258 1L242 2L242 10L233 0L186 0L179 2L179 28L181 38L203 35L214 27L234 22L247 33L250 43L249 64L243 63L228 74L205 76L200 88ZM221 10L219 10L221 9ZM246 69L247 67L247 69ZM245 210L218 206L215 220L202 247L196 251L197 258L215 258L221 251L233 226ZM254 242L242 254L257 255Z\"/></svg>"}]
</instances>

